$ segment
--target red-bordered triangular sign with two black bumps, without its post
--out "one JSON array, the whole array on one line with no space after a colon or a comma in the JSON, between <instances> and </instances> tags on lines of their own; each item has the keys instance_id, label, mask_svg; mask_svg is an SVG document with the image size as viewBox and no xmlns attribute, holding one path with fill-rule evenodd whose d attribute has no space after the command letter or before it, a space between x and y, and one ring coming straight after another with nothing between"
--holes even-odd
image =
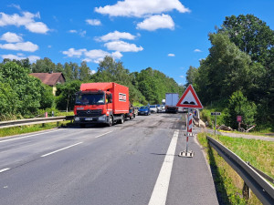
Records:
<instances>
[{"instance_id":1,"label":"red-bordered triangular sign with two black bumps, without its post","mask_svg":"<svg viewBox=\"0 0 274 205\"><path fill-rule=\"evenodd\" d=\"M184 90L183 96L179 99L176 107L183 107L183 108L204 108L200 99L197 97L194 88L192 85L189 85Z\"/></svg>"}]
</instances>

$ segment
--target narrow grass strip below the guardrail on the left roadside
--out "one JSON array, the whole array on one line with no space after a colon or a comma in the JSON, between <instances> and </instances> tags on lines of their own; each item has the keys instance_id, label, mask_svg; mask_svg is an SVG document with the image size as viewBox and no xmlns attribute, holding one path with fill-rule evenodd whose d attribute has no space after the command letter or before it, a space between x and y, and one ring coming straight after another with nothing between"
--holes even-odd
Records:
<instances>
[{"instance_id":1,"label":"narrow grass strip below the guardrail on the left roadside","mask_svg":"<svg viewBox=\"0 0 274 205\"><path fill-rule=\"evenodd\" d=\"M67 126L70 124L70 121L61 121L61 122L50 122L45 124L36 124L36 125L29 125L29 126L20 126L20 127L13 127L13 128L0 128L0 138L12 136L12 135L20 135L30 132L37 132L41 130L46 130L50 128L57 128L60 126Z\"/></svg>"}]
</instances>

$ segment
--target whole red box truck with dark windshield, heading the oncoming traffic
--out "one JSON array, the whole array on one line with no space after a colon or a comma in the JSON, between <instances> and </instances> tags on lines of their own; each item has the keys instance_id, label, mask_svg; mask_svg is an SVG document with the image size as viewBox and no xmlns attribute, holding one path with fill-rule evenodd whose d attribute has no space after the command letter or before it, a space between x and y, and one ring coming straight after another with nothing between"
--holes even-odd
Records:
<instances>
[{"instance_id":1,"label":"whole red box truck with dark windshield, heading the oncoming traffic","mask_svg":"<svg viewBox=\"0 0 274 205\"><path fill-rule=\"evenodd\" d=\"M87 124L113 125L123 123L134 114L129 101L129 87L117 83L84 83L76 96L74 122L81 127Z\"/></svg>"}]
</instances>

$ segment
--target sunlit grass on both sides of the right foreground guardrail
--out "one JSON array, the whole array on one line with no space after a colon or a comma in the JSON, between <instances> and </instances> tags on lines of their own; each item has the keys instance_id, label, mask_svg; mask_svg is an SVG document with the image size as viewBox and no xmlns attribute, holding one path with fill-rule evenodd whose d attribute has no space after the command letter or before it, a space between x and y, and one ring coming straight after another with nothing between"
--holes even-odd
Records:
<instances>
[{"instance_id":1,"label":"sunlit grass on both sides of the right foreground guardrail","mask_svg":"<svg viewBox=\"0 0 274 205\"><path fill-rule=\"evenodd\" d=\"M216 136L216 139L236 153L241 159L249 161L257 169L264 171L272 178L274 177L274 158L272 157L274 156L274 142L246 138L229 138L226 136ZM208 146L205 133L199 133L198 140L205 148L206 158L212 170L219 203L261 204L252 191L251 198L248 201L243 199L243 179L217 154L215 149L211 149Z\"/></svg>"}]
</instances>

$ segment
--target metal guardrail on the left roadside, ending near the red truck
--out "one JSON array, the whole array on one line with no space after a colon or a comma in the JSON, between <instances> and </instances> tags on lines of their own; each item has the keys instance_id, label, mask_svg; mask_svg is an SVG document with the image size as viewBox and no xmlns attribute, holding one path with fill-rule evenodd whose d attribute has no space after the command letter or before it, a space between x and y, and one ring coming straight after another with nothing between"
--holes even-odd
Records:
<instances>
[{"instance_id":1,"label":"metal guardrail on the left roadside, ending near the red truck","mask_svg":"<svg viewBox=\"0 0 274 205\"><path fill-rule=\"evenodd\" d=\"M0 128L11 128L16 126L26 126L33 124L43 124L49 122L58 122L63 120L72 120L74 116L61 116L61 117L49 117L49 118L27 118L12 121L0 121Z\"/></svg>"}]
</instances>

